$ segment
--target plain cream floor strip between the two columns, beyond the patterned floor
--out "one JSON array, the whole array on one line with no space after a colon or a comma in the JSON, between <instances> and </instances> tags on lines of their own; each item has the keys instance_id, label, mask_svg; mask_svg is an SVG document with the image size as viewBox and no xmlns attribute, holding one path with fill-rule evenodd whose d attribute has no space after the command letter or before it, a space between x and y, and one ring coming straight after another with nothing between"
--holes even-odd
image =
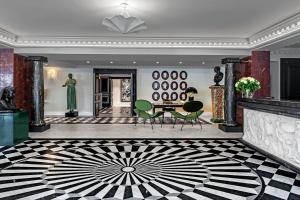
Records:
<instances>
[{"instance_id":1,"label":"plain cream floor strip between the two columns, beyond the patterned floor","mask_svg":"<svg viewBox=\"0 0 300 200\"><path fill-rule=\"evenodd\" d=\"M242 133L225 133L213 124L191 126L187 124L181 131L181 125L159 124L51 124L51 129L43 133L30 133L31 138L240 138Z\"/></svg>"}]
</instances>

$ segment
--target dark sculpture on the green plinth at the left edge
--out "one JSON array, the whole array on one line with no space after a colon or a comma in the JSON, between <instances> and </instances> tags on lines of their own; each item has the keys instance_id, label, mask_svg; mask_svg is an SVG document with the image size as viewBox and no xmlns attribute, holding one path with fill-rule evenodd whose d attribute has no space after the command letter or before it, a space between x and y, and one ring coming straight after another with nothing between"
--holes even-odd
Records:
<instances>
[{"instance_id":1,"label":"dark sculpture on the green plinth at the left edge","mask_svg":"<svg viewBox=\"0 0 300 200\"><path fill-rule=\"evenodd\" d=\"M15 96L15 89L11 86L0 91L0 112L14 112L17 110Z\"/></svg>"}]
</instances>

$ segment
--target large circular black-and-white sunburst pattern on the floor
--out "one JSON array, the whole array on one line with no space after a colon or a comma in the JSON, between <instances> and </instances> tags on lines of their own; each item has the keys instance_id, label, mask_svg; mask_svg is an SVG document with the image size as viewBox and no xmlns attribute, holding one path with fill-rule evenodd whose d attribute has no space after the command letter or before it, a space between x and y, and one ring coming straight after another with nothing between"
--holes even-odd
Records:
<instances>
[{"instance_id":1,"label":"large circular black-and-white sunburst pattern on the floor","mask_svg":"<svg viewBox=\"0 0 300 200\"><path fill-rule=\"evenodd\" d=\"M240 162L163 145L63 150L15 163L2 173L7 181L17 180L11 183L17 188L38 190L28 199L237 200L255 199L263 188L259 175ZM2 190L0 196L14 199L12 191Z\"/></svg>"}]
</instances>

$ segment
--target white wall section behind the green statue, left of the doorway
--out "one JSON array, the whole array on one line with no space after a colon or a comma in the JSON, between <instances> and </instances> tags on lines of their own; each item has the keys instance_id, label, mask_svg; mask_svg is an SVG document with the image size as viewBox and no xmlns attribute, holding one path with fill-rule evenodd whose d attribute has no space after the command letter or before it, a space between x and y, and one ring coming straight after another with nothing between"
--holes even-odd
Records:
<instances>
[{"instance_id":1,"label":"white wall section behind the green statue, left of the doorway","mask_svg":"<svg viewBox=\"0 0 300 200\"><path fill-rule=\"evenodd\" d=\"M79 115L93 115L93 69L45 67L45 115L64 115L67 111L67 89L62 85L72 73L77 80L76 95ZM51 75L53 77L51 77Z\"/></svg>"}]
</instances>

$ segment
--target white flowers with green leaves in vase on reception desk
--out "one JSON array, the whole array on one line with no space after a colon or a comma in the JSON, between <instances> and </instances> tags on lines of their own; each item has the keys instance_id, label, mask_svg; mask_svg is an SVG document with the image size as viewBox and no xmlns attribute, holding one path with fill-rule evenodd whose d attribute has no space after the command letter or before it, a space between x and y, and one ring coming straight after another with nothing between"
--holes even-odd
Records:
<instances>
[{"instance_id":1,"label":"white flowers with green leaves in vase on reception desk","mask_svg":"<svg viewBox=\"0 0 300 200\"><path fill-rule=\"evenodd\" d=\"M235 89L242 92L242 97L246 98L252 98L254 92L260 88L260 82L253 77L242 77L235 83Z\"/></svg>"}]
</instances>

